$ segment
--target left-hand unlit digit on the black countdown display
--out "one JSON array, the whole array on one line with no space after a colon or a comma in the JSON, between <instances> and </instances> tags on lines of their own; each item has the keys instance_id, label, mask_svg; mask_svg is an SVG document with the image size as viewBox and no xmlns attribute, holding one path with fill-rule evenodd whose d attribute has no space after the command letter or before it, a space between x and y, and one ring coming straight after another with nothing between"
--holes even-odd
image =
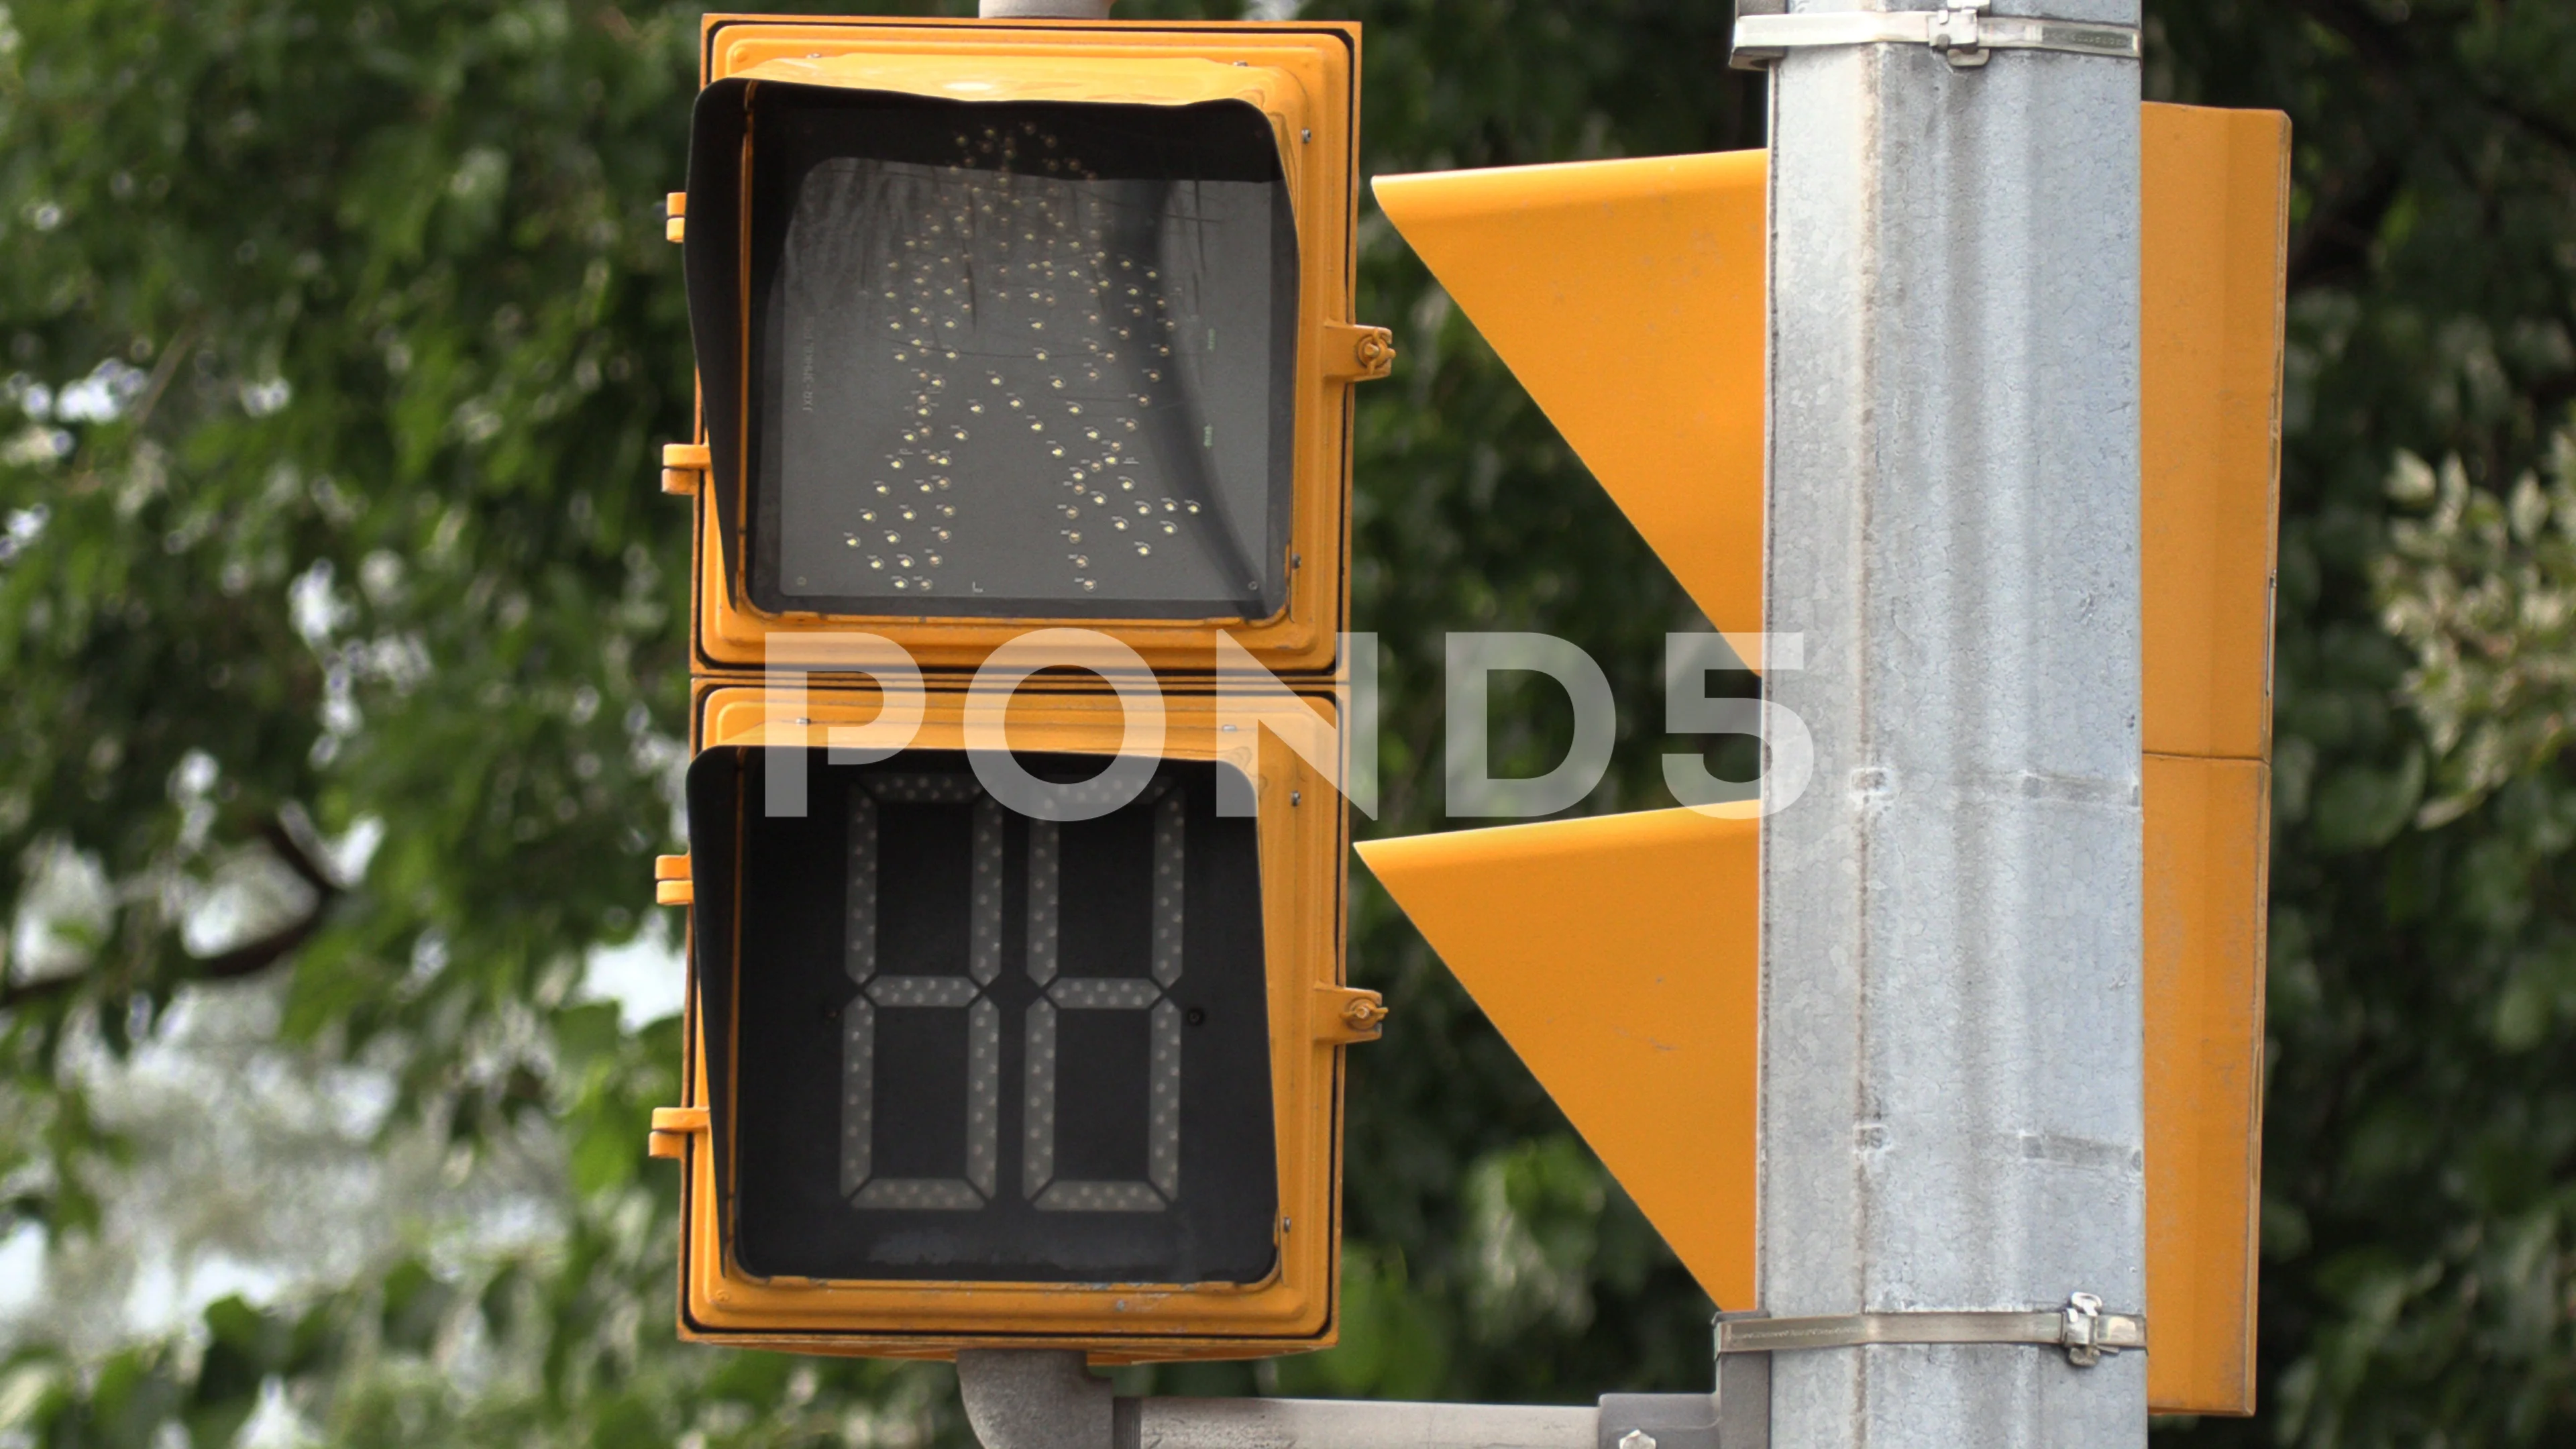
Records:
<instances>
[{"instance_id":1,"label":"left-hand unlit digit on the black countdown display","mask_svg":"<svg viewBox=\"0 0 2576 1449\"><path fill-rule=\"evenodd\" d=\"M958 804L974 799L971 882L966 892L963 977L876 975L876 799ZM994 1194L1002 1134L1002 1008L984 987L1002 975L1002 807L956 776L876 776L850 792L850 902L842 969L860 993L840 1011L840 1191L855 1207L974 1209ZM876 1008L966 1011L966 1176L878 1178Z\"/></svg>"}]
</instances>

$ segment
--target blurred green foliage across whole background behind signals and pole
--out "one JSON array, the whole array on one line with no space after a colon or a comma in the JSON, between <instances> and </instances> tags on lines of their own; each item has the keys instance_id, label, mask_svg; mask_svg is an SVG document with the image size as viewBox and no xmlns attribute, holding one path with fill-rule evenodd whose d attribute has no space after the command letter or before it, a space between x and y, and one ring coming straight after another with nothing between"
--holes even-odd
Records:
<instances>
[{"instance_id":1,"label":"blurred green foliage across whole background behind signals and pole","mask_svg":"<svg viewBox=\"0 0 2576 1449\"><path fill-rule=\"evenodd\" d=\"M1762 144L1723 5L1311 13L1368 23L1370 173ZM2568 1441L2576 10L2148 26L2151 98L2298 137L2264 1413L2164 1431ZM670 1328L693 39L644 0L0 5L0 1444L961 1441L943 1369ZM1363 242L1404 345L1360 418L1370 828L1440 828L1448 629L1589 647L1587 810L1662 804L1690 603ZM1543 768L1551 709L1499 694L1497 761ZM1394 1031L1352 1057L1342 1346L1128 1390L1703 1385L1705 1299L1365 871L1352 969Z\"/></svg>"}]
</instances>

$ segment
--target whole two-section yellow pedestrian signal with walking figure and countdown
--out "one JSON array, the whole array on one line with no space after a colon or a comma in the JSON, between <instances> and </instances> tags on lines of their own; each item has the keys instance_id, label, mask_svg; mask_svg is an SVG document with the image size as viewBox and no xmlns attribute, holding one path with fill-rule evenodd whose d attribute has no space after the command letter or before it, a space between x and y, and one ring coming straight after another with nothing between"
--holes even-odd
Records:
<instances>
[{"instance_id":1,"label":"whole two-section yellow pedestrian signal with walking figure and countdown","mask_svg":"<svg viewBox=\"0 0 2576 1449\"><path fill-rule=\"evenodd\" d=\"M1358 39L706 21L685 1338L1332 1343Z\"/></svg>"}]
</instances>

